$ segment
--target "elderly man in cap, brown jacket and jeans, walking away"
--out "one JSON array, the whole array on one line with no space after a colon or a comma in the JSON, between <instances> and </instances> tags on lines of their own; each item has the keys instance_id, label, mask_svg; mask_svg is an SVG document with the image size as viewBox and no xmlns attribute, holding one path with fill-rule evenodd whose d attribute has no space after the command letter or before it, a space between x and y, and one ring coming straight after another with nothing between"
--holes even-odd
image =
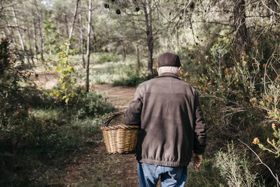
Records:
<instances>
[{"instance_id":1,"label":"elderly man in cap, brown jacket and jeans, walking away","mask_svg":"<svg viewBox=\"0 0 280 187\"><path fill-rule=\"evenodd\" d=\"M141 83L129 108L127 125L140 125L137 143L139 186L184 186L188 164L202 162L206 130L197 91L181 81L178 55L158 57L159 76Z\"/></svg>"}]
</instances>

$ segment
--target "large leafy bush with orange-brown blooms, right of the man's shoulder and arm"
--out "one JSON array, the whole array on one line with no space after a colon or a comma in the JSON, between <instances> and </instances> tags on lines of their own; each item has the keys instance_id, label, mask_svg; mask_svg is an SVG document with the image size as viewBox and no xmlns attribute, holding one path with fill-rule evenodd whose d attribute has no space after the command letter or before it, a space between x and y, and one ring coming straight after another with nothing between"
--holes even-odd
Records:
<instances>
[{"instance_id":1,"label":"large leafy bush with orange-brown blooms, right of the man's shoulder and arm","mask_svg":"<svg viewBox=\"0 0 280 187\"><path fill-rule=\"evenodd\" d=\"M270 41L274 43L271 46L274 50L264 51L262 41L255 41L247 55L243 53L240 59L235 59L234 43L227 37L217 39L209 48L209 57L199 64L199 71L188 71L184 75L183 80L194 85L201 94L204 117L211 129L207 134L209 153L229 140L241 139L253 146L254 137L259 138L259 141L255 139L256 144L269 137L267 146L263 143L259 146L270 152L275 150L276 156L279 153L280 59L276 42L279 41ZM271 158L268 154L262 155ZM275 159L267 160L266 164L279 172ZM258 171L269 181L265 169L258 168Z\"/></svg>"}]
</instances>

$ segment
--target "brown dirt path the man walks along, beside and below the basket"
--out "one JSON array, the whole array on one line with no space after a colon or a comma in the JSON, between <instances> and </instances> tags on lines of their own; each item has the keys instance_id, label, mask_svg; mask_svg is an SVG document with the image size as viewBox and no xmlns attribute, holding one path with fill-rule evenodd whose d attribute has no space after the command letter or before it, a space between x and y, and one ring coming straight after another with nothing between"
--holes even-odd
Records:
<instances>
[{"instance_id":1,"label":"brown dirt path the man walks along, beside and below the basket","mask_svg":"<svg viewBox=\"0 0 280 187\"><path fill-rule=\"evenodd\" d=\"M93 85L104 92L108 101L120 111L127 108L136 88L112 85ZM64 186L138 186L137 161L134 155L107 155L102 139L69 160L65 168Z\"/></svg>"}]
</instances>

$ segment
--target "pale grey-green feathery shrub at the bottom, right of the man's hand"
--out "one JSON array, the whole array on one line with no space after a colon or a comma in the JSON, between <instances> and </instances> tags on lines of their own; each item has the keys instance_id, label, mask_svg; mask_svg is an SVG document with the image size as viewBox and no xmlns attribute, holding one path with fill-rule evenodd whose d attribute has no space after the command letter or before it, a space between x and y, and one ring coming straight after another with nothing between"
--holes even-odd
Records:
<instances>
[{"instance_id":1,"label":"pale grey-green feathery shrub at the bottom, right of the man's hand","mask_svg":"<svg viewBox=\"0 0 280 187\"><path fill-rule=\"evenodd\" d=\"M227 181L228 186L262 186L257 181L257 174L251 174L251 168L246 153L243 156L237 152L234 144L228 144L226 151L218 151L214 165L220 175Z\"/></svg>"}]
</instances>

